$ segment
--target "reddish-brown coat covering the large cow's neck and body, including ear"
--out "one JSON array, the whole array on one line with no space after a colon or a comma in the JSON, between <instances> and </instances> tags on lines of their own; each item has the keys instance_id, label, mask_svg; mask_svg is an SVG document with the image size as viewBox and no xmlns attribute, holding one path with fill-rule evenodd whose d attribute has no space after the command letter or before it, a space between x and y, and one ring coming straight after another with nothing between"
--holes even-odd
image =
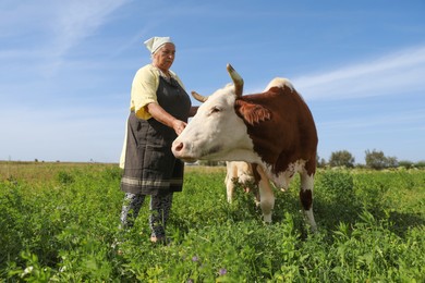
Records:
<instances>
[{"instance_id":1,"label":"reddish-brown coat covering the large cow's neck and body, including ear","mask_svg":"<svg viewBox=\"0 0 425 283\"><path fill-rule=\"evenodd\" d=\"M253 107L255 106L255 107ZM296 90L288 86L271 87L262 94L236 98L236 114L244 121L247 134L264 162L275 174L283 172L290 163L305 160L308 175L316 170L317 132L312 112ZM262 109L269 119L259 119ZM262 123L253 123L260 121Z\"/></svg>"}]
</instances>

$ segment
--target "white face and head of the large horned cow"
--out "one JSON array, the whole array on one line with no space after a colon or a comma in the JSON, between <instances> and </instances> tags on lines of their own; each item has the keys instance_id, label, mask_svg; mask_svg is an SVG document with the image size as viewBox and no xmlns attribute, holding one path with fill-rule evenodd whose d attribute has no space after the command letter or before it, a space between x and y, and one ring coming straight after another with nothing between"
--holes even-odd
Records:
<instances>
[{"instance_id":1,"label":"white face and head of the large horned cow","mask_svg":"<svg viewBox=\"0 0 425 283\"><path fill-rule=\"evenodd\" d=\"M243 79L230 64L227 69L233 84L207 98L192 93L203 104L172 144L172 152L177 158L193 162L242 160L241 156L246 159L246 155L252 155L253 143L240 111L243 106L238 102L242 97Z\"/></svg>"}]
</instances>

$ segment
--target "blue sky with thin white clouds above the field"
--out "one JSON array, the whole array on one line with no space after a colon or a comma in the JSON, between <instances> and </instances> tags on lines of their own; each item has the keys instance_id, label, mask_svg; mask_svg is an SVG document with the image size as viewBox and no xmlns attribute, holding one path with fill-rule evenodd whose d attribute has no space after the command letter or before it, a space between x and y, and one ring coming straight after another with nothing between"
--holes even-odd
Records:
<instances>
[{"instance_id":1,"label":"blue sky with thin white clouds above the field","mask_svg":"<svg viewBox=\"0 0 425 283\"><path fill-rule=\"evenodd\" d=\"M424 15L424 0L2 0L0 160L118 162L151 36L173 38L187 90L230 83L227 63L245 94L291 79L320 158L425 160Z\"/></svg>"}]
</instances>

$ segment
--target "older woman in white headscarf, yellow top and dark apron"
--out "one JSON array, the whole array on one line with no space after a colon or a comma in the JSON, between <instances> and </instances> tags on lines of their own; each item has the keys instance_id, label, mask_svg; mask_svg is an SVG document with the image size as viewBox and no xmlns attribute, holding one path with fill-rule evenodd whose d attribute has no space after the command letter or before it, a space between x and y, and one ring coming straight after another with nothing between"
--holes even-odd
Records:
<instances>
[{"instance_id":1,"label":"older woman in white headscarf, yellow top and dark apron","mask_svg":"<svg viewBox=\"0 0 425 283\"><path fill-rule=\"evenodd\" d=\"M147 195L150 196L150 242L165 242L166 223L174 192L183 186L184 163L171 152L171 144L184 130L197 108L170 70L175 46L170 37L145 42L151 63L141 67L133 79L130 115L120 165L124 169L121 189L125 192L121 226L131 227Z\"/></svg>"}]
</instances>

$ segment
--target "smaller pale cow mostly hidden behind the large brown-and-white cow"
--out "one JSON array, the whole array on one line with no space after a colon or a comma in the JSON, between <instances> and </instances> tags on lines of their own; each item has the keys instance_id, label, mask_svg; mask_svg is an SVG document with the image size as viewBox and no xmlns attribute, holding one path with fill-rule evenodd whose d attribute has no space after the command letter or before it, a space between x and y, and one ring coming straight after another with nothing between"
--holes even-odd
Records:
<instances>
[{"instance_id":1,"label":"smaller pale cow mostly hidden behind the large brown-and-white cow","mask_svg":"<svg viewBox=\"0 0 425 283\"><path fill-rule=\"evenodd\" d=\"M259 175L255 171L256 164L244 161L226 161L226 192L228 202L233 200L234 186L241 185L245 193L253 193L255 196L255 204L259 205L258 182Z\"/></svg>"}]
</instances>

